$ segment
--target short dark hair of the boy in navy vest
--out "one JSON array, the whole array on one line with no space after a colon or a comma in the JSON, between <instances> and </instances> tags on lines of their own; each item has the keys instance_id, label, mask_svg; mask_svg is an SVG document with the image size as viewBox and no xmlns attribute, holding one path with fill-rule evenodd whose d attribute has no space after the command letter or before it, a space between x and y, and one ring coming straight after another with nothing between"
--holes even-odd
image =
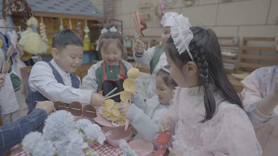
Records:
<instances>
[{"instance_id":1,"label":"short dark hair of the boy in navy vest","mask_svg":"<svg viewBox=\"0 0 278 156\"><path fill-rule=\"evenodd\" d=\"M81 38L71 29L64 29L57 32L52 38L52 47L56 49L64 49L67 45L75 45L83 47Z\"/></svg>"}]
</instances>

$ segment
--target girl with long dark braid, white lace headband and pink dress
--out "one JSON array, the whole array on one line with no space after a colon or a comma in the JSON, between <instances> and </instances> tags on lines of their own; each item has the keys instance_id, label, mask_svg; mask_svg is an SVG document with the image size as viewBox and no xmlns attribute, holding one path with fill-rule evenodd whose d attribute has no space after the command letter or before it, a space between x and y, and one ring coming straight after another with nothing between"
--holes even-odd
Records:
<instances>
[{"instance_id":1,"label":"girl with long dark braid, white lace headband and pink dress","mask_svg":"<svg viewBox=\"0 0 278 156\"><path fill-rule=\"evenodd\" d=\"M173 153L186 156L262 155L240 97L225 75L216 34L176 18L166 47L179 89L160 123L173 131Z\"/></svg>"}]
</instances>

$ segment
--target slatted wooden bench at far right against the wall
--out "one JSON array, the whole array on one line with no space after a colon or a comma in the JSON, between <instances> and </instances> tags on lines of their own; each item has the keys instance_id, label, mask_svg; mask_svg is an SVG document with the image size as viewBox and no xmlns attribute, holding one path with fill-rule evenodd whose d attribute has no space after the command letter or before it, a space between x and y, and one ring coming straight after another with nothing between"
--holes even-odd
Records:
<instances>
[{"instance_id":1,"label":"slatted wooden bench at far right against the wall","mask_svg":"<svg viewBox=\"0 0 278 156\"><path fill-rule=\"evenodd\" d=\"M241 92L244 88L241 81L246 75L260 67L276 65L278 55L275 45L274 37L243 38L237 70L234 72L235 74L228 74L228 79L238 92Z\"/></svg>"}]
</instances>

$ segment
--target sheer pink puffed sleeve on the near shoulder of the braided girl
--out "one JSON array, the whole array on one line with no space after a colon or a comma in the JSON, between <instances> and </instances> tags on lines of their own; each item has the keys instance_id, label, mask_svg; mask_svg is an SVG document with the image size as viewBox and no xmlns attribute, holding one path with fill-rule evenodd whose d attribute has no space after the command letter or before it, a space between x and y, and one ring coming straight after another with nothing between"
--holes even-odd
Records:
<instances>
[{"instance_id":1,"label":"sheer pink puffed sleeve on the near shoulder of the braided girl","mask_svg":"<svg viewBox=\"0 0 278 156\"><path fill-rule=\"evenodd\" d=\"M241 108L223 103L212 121L204 124L203 148L193 155L262 155L252 124Z\"/></svg>"}]
</instances>

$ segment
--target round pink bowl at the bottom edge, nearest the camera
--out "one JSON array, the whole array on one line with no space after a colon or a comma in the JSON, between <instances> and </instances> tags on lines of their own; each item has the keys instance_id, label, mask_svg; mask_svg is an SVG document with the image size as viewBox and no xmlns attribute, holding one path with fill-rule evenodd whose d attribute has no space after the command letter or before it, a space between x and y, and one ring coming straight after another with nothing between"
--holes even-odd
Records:
<instances>
[{"instance_id":1,"label":"round pink bowl at the bottom edge, nearest the camera","mask_svg":"<svg viewBox=\"0 0 278 156\"><path fill-rule=\"evenodd\" d=\"M146 140L133 140L129 146L140 156L151 156L153 145Z\"/></svg>"}]
</instances>

